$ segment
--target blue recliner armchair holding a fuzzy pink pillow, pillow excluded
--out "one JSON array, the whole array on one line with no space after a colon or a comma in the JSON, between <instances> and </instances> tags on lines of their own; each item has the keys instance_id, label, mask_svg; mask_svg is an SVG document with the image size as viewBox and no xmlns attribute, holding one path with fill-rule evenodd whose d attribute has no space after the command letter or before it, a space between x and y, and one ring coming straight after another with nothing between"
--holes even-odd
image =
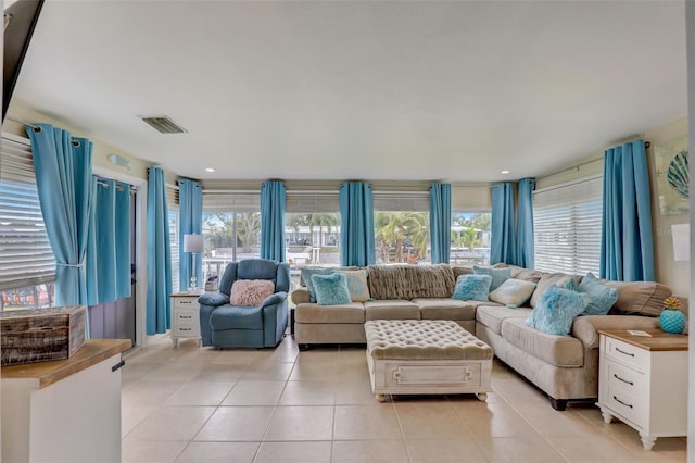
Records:
<instances>
[{"instance_id":1,"label":"blue recliner armchair holding a fuzzy pink pillow, pillow excluded","mask_svg":"<svg viewBox=\"0 0 695 463\"><path fill-rule=\"evenodd\" d=\"M275 293L257 308L230 305L231 285L238 279L271 280ZM203 346L277 346L287 329L289 289L290 267L285 263L266 259L229 263L219 280L219 292L205 292L198 299Z\"/></svg>"}]
</instances>

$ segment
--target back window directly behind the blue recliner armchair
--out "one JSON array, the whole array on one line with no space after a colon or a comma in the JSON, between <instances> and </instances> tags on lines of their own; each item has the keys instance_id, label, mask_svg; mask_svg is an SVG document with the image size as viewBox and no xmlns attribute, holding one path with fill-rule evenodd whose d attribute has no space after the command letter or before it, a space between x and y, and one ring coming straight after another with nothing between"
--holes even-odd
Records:
<instances>
[{"instance_id":1,"label":"back window directly behind the blue recliner armchair","mask_svg":"<svg viewBox=\"0 0 695 463\"><path fill-rule=\"evenodd\" d=\"M203 190L204 281L227 263L261 256L261 195Z\"/></svg>"}]
</instances>

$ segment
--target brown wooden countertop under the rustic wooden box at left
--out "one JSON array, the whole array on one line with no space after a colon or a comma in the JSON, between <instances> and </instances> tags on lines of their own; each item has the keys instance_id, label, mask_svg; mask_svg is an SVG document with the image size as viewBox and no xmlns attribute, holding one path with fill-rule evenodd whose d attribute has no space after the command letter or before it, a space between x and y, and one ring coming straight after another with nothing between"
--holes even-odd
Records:
<instances>
[{"instance_id":1,"label":"brown wooden countertop under the rustic wooden box at left","mask_svg":"<svg viewBox=\"0 0 695 463\"><path fill-rule=\"evenodd\" d=\"M3 366L2 379L38 379L39 389L130 349L130 339L87 339L73 356L52 362Z\"/></svg>"}]
</instances>

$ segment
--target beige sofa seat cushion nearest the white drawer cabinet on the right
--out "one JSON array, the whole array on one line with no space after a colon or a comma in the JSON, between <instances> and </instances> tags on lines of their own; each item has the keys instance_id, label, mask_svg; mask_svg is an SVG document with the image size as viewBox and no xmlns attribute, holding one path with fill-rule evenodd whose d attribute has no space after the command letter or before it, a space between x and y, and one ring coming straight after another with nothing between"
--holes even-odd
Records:
<instances>
[{"instance_id":1,"label":"beige sofa seat cushion nearest the white drawer cabinet on the right","mask_svg":"<svg viewBox=\"0 0 695 463\"><path fill-rule=\"evenodd\" d=\"M584 365L584 346L571 336L555 336L539 331L523 323L523 318L506 318L502 322L505 341L525 352L561 367Z\"/></svg>"}]
</instances>

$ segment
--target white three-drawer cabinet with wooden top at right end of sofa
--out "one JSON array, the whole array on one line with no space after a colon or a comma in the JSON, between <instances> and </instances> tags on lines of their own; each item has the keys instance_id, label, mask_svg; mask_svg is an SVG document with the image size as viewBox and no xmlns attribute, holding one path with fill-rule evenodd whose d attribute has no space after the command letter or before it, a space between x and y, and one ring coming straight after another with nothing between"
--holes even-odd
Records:
<instances>
[{"instance_id":1,"label":"white three-drawer cabinet with wooden top at right end of sofa","mask_svg":"<svg viewBox=\"0 0 695 463\"><path fill-rule=\"evenodd\" d=\"M660 329L652 336L626 330L601 334L598 403L640 433L646 450L658 437L687 435L687 336Z\"/></svg>"}]
</instances>

